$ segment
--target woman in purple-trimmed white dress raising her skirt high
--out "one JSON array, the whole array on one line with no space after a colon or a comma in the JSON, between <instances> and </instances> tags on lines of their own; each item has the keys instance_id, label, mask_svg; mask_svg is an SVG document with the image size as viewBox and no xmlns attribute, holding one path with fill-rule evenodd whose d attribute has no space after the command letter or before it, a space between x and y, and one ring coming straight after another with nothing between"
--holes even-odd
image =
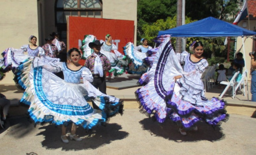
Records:
<instances>
[{"instance_id":1,"label":"woman in purple-trimmed white dress raising her skirt high","mask_svg":"<svg viewBox=\"0 0 256 155\"><path fill-rule=\"evenodd\" d=\"M195 43L194 54L184 52L177 55L170 36L159 36L158 42L162 44L152 49L146 58L152 67L140 79L144 86L135 92L140 111L154 114L158 122L164 122L166 118L177 122L182 135L187 134L185 129L197 130L195 124L198 121L212 126L226 121L225 102L214 97L208 101L204 96L200 79L208 63L202 57L202 42ZM184 70L182 62L185 62Z\"/></svg>"}]
</instances>

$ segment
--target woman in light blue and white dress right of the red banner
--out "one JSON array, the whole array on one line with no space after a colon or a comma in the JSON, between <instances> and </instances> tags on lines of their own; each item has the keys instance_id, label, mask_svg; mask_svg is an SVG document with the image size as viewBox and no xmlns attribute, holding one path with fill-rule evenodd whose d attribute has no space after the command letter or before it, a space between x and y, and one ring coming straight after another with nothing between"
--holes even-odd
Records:
<instances>
[{"instance_id":1,"label":"woman in light blue and white dress right of the red banner","mask_svg":"<svg viewBox=\"0 0 256 155\"><path fill-rule=\"evenodd\" d=\"M125 55L132 61L132 63L129 64L128 73L142 75L148 70L146 64L144 64L144 59L147 57L146 53L151 50L152 47L148 45L148 41L145 38L142 38L140 42L142 45L137 47L131 42L128 42L124 47Z\"/></svg>"}]
</instances>

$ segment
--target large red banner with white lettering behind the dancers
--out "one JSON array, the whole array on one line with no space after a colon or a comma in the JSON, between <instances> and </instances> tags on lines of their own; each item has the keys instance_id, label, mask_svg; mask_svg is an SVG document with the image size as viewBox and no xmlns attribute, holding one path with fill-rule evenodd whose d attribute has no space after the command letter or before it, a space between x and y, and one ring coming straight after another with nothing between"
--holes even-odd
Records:
<instances>
[{"instance_id":1,"label":"large red banner with white lettering behind the dancers","mask_svg":"<svg viewBox=\"0 0 256 155\"><path fill-rule=\"evenodd\" d=\"M123 47L134 40L134 21L69 16L68 48L78 48L79 39L83 40L87 34L104 41L105 36L110 34L118 51L124 54Z\"/></svg>"}]
</instances>

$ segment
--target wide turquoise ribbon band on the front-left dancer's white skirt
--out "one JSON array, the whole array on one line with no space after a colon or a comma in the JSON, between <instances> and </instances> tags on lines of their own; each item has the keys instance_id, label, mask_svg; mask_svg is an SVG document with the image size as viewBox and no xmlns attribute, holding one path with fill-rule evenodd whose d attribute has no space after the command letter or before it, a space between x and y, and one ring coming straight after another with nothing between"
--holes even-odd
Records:
<instances>
[{"instance_id":1,"label":"wide turquoise ribbon band on the front-left dancer's white skirt","mask_svg":"<svg viewBox=\"0 0 256 155\"><path fill-rule=\"evenodd\" d=\"M48 100L42 87L42 67L34 68L34 87L35 94L42 104L56 113L72 115L72 116L85 116L93 113L93 108L87 103L86 106L72 106L72 105L58 105Z\"/></svg>"}]
</instances>

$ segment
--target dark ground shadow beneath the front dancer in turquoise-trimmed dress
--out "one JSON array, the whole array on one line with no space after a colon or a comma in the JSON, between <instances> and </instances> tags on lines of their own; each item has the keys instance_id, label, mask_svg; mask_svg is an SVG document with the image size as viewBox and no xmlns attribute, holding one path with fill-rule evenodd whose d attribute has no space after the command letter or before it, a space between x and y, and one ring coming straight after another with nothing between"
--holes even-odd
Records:
<instances>
[{"instance_id":1,"label":"dark ground shadow beneath the front dancer in turquoise-trimmed dress","mask_svg":"<svg viewBox=\"0 0 256 155\"><path fill-rule=\"evenodd\" d=\"M67 129L70 129L71 125ZM98 126L92 131L86 132L82 127L79 127L76 134L83 138L82 141L74 141L69 139L69 143L65 144L61 141L61 127L55 125L42 126L39 128L44 130L37 135L44 135L45 140L42 141L42 146L47 149L62 148L62 150L86 150L96 149L103 145L110 144L114 140L124 139L129 135L128 132L120 131L122 127L118 124L107 124L106 126Z\"/></svg>"}]
</instances>

